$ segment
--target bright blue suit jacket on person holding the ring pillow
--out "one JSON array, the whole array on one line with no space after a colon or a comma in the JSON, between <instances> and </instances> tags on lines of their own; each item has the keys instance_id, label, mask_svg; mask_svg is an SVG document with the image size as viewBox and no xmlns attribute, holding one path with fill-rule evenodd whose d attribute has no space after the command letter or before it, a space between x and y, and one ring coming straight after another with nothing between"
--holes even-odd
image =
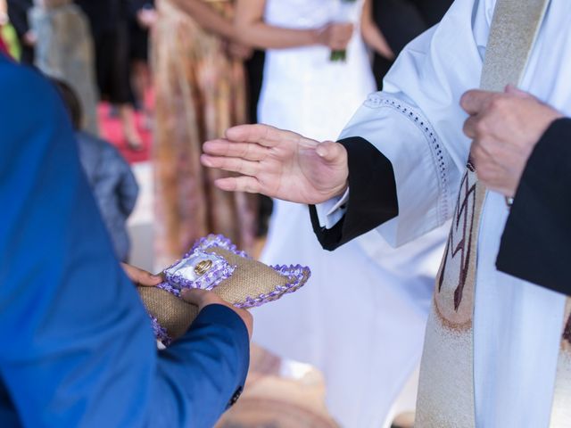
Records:
<instances>
[{"instance_id":1,"label":"bright blue suit jacket on person holding the ring pillow","mask_svg":"<svg viewBox=\"0 0 571 428\"><path fill-rule=\"evenodd\" d=\"M0 426L212 426L244 384L244 323L209 306L157 351L59 96L1 54L0 94Z\"/></svg>"}]
</instances>

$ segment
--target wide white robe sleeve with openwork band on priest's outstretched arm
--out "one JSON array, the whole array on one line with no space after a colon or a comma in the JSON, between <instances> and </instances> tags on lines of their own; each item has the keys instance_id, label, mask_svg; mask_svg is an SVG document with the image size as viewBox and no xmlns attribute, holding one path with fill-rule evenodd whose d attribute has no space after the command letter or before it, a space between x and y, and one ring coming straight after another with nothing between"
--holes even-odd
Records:
<instances>
[{"instance_id":1,"label":"wide white robe sleeve with openwork band on priest's outstretched arm","mask_svg":"<svg viewBox=\"0 0 571 428\"><path fill-rule=\"evenodd\" d=\"M459 99L479 86L489 32L489 21L473 18L477 7L490 2L457 0L438 26L407 45L384 91L369 95L341 135L365 138L393 164L399 215L377 228L393 246L451 218L470 144Z\"/></svg>"}]
</instances>

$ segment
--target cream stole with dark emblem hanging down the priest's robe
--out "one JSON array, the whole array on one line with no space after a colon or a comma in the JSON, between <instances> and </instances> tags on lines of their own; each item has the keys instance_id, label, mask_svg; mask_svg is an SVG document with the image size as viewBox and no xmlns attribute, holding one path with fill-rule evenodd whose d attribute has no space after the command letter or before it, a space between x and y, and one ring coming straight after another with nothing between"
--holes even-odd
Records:
<instances>
[{"instance_id":1,"label":"cream stole with dark emblem hanging down the priest's robe","mask_svg":"<svg viewBox=\"0 0 571 428\"><path fill-rule=\"evenodd\" d=\"M486 46L481 87L503 91L517 84L549 0L498 0ZM486 190L468 162L426 326L418 385L419 428L470 428L474 407L472 317L478 229ZM571 304L561 344L551 427L571 426Z\"/></svg>"}]
</instances>

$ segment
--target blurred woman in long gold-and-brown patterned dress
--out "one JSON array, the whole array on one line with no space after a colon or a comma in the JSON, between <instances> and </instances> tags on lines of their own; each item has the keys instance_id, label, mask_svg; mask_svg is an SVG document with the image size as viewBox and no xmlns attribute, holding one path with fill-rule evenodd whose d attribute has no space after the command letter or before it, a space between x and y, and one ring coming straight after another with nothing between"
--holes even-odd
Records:
<instances>
[{"instance_id":1,"label":"blurred woman in long gold-and-brown patterned dress","mask_svg":"<svg viewBox=\"0 0 571 428\"><path fill-rule=\"evenodd\" d=\"M213 185L200 164L203 141L246 119L244 69L230 0L157 0L153 30L156 244L165 266L208 233L252 246L255 197Z\"/></svg>"}]
</instances>

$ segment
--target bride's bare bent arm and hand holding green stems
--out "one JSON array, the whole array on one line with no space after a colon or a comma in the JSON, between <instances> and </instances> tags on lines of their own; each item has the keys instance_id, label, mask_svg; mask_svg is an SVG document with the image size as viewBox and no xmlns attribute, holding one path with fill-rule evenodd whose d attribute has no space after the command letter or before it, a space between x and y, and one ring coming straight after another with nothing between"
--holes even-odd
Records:
<instances>
[{"instance_id":1,"label":"bride's bare bent arm and hand holding green stems","mask_svg":"<svg viewBox=\"0 0 571 428\"><path fill-rule=\"evenodd\" d=\"M344 49L352 36L352 24L329 23L319 29L285 29L263 20L266 0L238 0L235 28L238 41L262 49L327 45Z\"/></svg>"}]
</instances>

